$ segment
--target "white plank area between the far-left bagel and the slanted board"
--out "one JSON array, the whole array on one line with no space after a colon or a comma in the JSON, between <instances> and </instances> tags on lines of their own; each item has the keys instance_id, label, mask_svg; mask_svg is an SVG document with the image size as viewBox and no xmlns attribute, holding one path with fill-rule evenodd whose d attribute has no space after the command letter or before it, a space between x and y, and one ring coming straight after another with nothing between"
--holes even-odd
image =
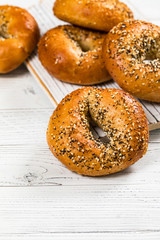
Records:
<instances>
[{"instance_id":1,"label":"white plank area between the far-left bagel and the slanted board","mask_svg":"<svg viewBox=\"0 0 160 240\"><path fill-rule=\"evenodd\" d=\"M24 65L0 76L0 109L45 107L53 105Z\"/></svg>"}]
</instances>

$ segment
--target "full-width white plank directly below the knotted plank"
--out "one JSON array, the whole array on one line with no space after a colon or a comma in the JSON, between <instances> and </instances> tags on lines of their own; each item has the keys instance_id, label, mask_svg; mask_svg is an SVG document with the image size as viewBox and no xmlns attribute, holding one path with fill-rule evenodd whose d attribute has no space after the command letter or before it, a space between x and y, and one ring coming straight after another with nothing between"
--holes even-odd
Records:
<instances>
[{"instance_id":1,"label":"full-width white plank directly below the knotted plank","mask_svg":"<svg viewBox=\"0 0 160 240\"><path fill-rule=\"evenodd\" d=\"M0 234L151 236L160 234L159 199L156 184L0 188Z\"/></svg>"}]
</instances>

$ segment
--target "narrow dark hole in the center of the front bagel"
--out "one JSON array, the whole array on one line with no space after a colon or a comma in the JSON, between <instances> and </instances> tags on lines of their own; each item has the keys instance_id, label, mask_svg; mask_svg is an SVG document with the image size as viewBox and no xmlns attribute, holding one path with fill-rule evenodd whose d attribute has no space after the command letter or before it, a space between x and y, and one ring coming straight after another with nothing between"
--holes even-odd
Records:
<instances>
[{"instance_id":1,"label":"narrow dark hole in the center of the front bagel","mask_svg":"<svg viewBox=\"0 0 160 240\"><path fill-rule=\"evenodd\" d=\"M94 121L93 119L90 117L90 131L93 134L93 137L95 139L98 139L99 141L101 141L103 144L107 144L110 142L109 138L106 136L106 133L102 130L102 128L100 128Z\"/></svg>"}]
</instances>

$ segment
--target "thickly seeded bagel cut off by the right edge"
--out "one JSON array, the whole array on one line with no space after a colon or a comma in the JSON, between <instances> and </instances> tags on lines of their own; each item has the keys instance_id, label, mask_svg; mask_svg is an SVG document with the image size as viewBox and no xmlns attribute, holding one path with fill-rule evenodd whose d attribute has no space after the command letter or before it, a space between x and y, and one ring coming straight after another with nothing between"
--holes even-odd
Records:
<instances>
[{"instance_id":1,"label":"thickly seeded bagel cut off by the right edge","mask_svg":"<svg viewBox=\"0 0 160 240\"><path fill-rule=\"evenodd\" d=\"M104 40L103 57L122 89L160 102L160 27L137 20L118 24Z\"/></svg>"}]
</instances>

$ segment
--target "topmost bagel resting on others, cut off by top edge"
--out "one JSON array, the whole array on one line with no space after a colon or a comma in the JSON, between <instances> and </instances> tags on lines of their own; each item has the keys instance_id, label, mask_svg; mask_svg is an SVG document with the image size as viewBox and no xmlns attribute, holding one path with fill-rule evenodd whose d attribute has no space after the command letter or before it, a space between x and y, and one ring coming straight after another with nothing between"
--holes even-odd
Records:
<instances>
[{"instance_id":1,"label":"topmost bagel resting on others, cut off by top edge","mask_svg":"<svg viewBox=\"0 0 160 240\"><path fill-rule=\"evenodd\" d=\"M132 11L118 0L56 0L53 12L63 21L106 32L133 19Z\"/></svg>"}]
</instances>

